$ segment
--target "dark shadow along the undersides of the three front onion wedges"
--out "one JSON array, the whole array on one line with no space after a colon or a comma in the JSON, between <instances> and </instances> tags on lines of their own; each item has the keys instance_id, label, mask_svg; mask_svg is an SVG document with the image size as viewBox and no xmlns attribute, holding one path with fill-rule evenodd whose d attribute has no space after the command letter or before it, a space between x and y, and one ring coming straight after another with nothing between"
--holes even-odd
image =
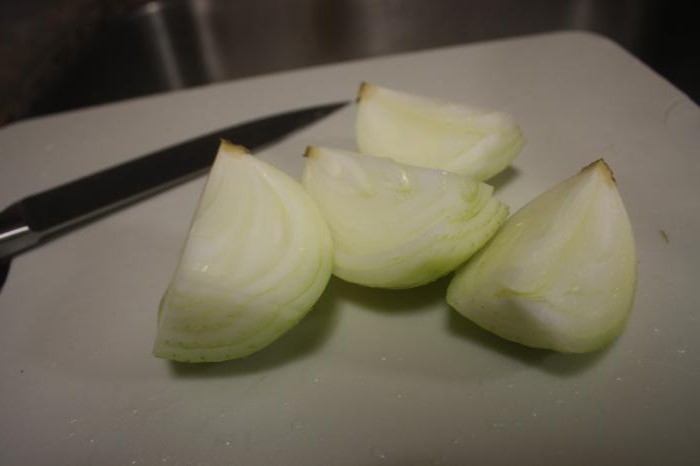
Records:
<instances>
[{"instance_id":1,"label":"dark shadow along the undersides of the three front onion wedges","mask_svg":"<svg viewBox=\"0 0 700 466\"><path fill-rule=\"evenodd\" d=\"M343 303L354 303L366 310L406 314L435 310L444 301L451 275L411 290L384 290L360 287L332 277L314 309L299 324L267 348L243 359L221 363L190 364L170 362L171 373L180 378L232 377L254 374L299 361L321 351L340 320ZM609 347L589 354L561 354L529 348L488 332L453 309L445 314L448 333L557 376L573 376L598 362Z\"/></svg>"}]
</instances>

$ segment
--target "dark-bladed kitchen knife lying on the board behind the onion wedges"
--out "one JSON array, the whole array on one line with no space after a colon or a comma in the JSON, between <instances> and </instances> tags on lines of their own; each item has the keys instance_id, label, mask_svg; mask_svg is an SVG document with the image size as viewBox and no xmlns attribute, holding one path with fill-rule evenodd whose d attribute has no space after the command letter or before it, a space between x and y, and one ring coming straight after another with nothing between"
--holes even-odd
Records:
<instances>
[{"instance_id":1,"label":"dark-bladed kitchen knife lying on the board behind the onion wedges","mask_svg":"<svg viewBox=\"0 0 700 466\"><path fill-rule=\"evenodd\" d=\"M0 212L0 289L17 254L207 172L220 139L260 149L348 103L293 110L214 131L15 202Z\"/></svg>"}]
</instances>

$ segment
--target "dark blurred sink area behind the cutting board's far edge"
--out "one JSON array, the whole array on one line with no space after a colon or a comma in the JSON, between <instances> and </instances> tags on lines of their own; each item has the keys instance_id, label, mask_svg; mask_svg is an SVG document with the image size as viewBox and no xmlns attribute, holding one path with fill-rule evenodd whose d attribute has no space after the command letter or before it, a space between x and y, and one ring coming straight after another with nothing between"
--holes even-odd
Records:
<instances>
[{"instance_id":1,"label":"dark blurred sink area behind the cutting board's far edge","mask_svg":"<svg viewBox=\"0 0 700 466\"><path fill-rule=\"evenodd\" d=\"M0 0L0 124L309 65L557 30L605 35L700 101L692 2Z\"/></svg>"}]
</instances>

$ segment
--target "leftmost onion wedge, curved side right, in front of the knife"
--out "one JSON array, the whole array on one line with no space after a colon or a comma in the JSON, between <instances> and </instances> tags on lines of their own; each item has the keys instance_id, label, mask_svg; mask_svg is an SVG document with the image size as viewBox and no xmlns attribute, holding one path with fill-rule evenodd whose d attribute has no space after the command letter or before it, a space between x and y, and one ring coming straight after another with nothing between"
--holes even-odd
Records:
<instances>
[{"instance_id":1,"label":"leftmost onion wedge, curved side right, in front of the knife","mask_svg":"<svg viewBox=\"0 0 700 466\"><path fill-rule=\"evenodd\" d=\"M315 304L332 251L301 185L223 142L161 303L154 355L213 362L264 348Z\"/></svg>"}]
</instances>

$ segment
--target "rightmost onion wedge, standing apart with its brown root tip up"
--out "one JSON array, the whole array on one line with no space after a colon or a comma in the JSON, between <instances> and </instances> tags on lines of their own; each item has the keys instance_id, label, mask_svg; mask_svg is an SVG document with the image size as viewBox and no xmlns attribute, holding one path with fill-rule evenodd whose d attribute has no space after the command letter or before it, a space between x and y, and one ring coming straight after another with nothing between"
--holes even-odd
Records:
<instances>
[{"instance_id":1,"label":"rightmost onion wedge, standing apart with its brown root tip up","mask_svg":"<svg viewBox=\"0 0 700 466\"><path fill-rule=\"evenodd\" d=\"M508 219L456 273L447 300L503 338L583 353L622 331L635 282L632 227L599 160Z\"/></svg>"}]
</instances>

